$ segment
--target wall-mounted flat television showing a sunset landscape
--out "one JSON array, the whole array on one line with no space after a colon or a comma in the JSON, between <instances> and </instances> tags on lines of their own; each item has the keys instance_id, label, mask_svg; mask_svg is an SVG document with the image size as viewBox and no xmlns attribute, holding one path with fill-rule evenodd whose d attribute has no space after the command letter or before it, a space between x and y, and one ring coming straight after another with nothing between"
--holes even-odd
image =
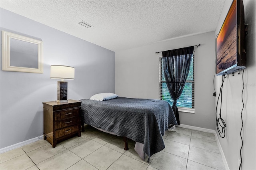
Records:
<instances>
[{"instance_id":1,"label":"wall-mounted flat television showing a sunset landscape","mask_svg":"<svg viewBox=\"0 0 256 170\"><path fill-rule=\"evenodd\" d=\"M244 4L233 0L216 39L216 75L234 73L246 67Z\"/></svg>"}]
</instances>

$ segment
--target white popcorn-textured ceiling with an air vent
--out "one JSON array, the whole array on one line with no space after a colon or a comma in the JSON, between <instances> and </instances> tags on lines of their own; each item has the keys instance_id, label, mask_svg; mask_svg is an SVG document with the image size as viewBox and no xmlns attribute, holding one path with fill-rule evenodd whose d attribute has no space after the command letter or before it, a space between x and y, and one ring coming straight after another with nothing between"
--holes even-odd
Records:
<instances>
[{"instance_id":1,"label":"white popcorn-textured ceiling with an air vent","mask_svg":"<svg viewBox=\"0 0 256 170\"><path fill-rule=\"evenodd\" d=\"M1 8L112 51L215 31L223 6L224 0L0 1Z\"/></svg>"}]
</instances>

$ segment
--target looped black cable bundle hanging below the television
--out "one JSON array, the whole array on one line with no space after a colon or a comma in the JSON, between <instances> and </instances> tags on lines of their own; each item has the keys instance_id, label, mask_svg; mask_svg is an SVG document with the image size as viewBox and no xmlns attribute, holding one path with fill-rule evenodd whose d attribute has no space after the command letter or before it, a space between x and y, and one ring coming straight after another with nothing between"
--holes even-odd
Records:
<instances>
[{"instance_id":1,"label":"looped black cable bundle hanging below the television","mask_svg":"<svg viewBox=\"0 0 256 170\"><path fill-rule=\"evenodd\" d=\"M218 133L220 135L220 137L224 138L226 136L226 132L225 132L225 128L226 128L226 123L225 121L221 118L221 107L222 107L222 89L223 89L223 84L224 84L224 81L225 81L225 75L222 76L222 85L220 86L220 94L218 96L218 100L217 100L217 105L216 105L216 112L215 112L215 116L216 116L216 127L217 127L217 130L218 130ZM218 108L218 103L219 103L219 99L220 99L220 117L217 119L217 108ZM222 124L220 124L220 121ZM222 126L223 125L223 126ZM222 130L220 131L220 128L219 126L222 128ZM222 136L221 134L224 135Z\"/></svg>"}]
</instances>

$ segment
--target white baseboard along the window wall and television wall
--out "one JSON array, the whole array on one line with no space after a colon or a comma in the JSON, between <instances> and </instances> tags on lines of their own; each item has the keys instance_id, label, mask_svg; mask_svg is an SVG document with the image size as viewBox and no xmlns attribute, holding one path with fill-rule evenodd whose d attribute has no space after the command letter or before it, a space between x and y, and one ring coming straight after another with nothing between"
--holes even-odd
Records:
<instances>
[{"instance_id":1,"label":"white baseboard along the window wall and television wall","mask_svg":"<svg viewBox=\"0 0 256 170\"><path fill-rule=\"evenodd\" d=\"M213 129L208 129L208 128L194 127L194 126L190 126L190 125L183 125L183 124L175 125L175 126L177 126L177 127L182 127L182 128L189 128L189 129L192 129L192 130L198 130L198 131L202 131L202 132L214 133L215 138L216 138L216 141L217 141L217 144L218 144L218 147L219 147L219 149L220 149L220 154L221 154L221 156L222 156L222 160L223 160L225 169L226 169L226 170L229 170L228 162L227 162L227 160L226 160L226 157L225 157L224 152L223 152L223 150L222 150L222 147L221 147L221 145L220 145L220 140L219 140L218 135L217 135L217 133L216 133L215 130L213 130Z\"/></svg>"}]
</instances>

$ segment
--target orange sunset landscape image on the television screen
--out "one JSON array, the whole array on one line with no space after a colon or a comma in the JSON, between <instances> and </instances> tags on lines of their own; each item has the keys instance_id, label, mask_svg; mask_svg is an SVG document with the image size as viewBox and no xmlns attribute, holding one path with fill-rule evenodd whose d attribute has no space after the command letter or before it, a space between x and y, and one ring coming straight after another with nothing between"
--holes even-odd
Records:
<instances>
[{"instance_id":1,"label":"orange sunset landscape image on the television screen","mask_svg":"<svg viewBox=\"0 0 256 170\"><path fill-rule=\"evenodd\" d=\"M237 55L237 23L236 0L231 4L230 10L217 37L216 73L236 64Z\"/></svg>"}]
</instances>

